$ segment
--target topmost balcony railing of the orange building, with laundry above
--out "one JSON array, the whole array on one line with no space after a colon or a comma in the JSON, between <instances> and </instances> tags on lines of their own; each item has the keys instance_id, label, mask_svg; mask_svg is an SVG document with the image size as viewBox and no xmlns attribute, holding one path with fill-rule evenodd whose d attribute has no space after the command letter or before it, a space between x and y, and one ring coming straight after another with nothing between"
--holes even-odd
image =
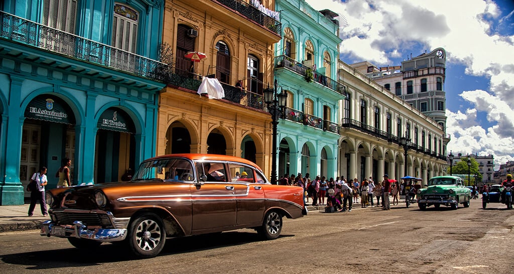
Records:
<instances>
[{"instance_id":1,"label":"topmost balcony railing of the orange building, with laundry above","mask_svg":"<svg viewBox=\"0 0 514 274\"><path fill-rule=\"evenodd\" d=\"M231 8L242 15L248 17L251 21L271 30L274 33L281 35L282 24L276 19L266 15L259 9L255 8L249 3L241 0L215 0L228 8ZM282 35L281 35L282 36Z\"/></svg>"}]
</instances>

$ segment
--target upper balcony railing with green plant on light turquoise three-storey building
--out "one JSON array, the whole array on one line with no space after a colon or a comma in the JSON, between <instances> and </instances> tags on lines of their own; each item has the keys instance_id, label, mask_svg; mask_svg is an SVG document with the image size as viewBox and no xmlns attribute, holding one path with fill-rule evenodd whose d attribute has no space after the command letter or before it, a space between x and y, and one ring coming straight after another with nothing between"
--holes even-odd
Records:
<instances>
[{"instance_id":1,"label":"upper balcony railing with green plant on light turquoise three-storey building","mask_svg":"<svg viewBox=\"0 0 514 274\"><path fill-rule=\"evenodd\" d=\"M275 57L274 68L276 68L276 69L277 68L286 68L292 72L302 75L303 77L305 77L305 75L307 74L307 70L311 69L310 67L305 66L302 63L297 62L290 57L287 57L286 55L280 55L280 56ZM313 72L313 81L314 82L317 82L329 89L332 89L332 90L338 92L339 94L345 93L346 87L344 85L340 84L339 82L337 82L321 73L317 73L316 71L312 71L312 72Z\"/></svg>"}]
</instances>

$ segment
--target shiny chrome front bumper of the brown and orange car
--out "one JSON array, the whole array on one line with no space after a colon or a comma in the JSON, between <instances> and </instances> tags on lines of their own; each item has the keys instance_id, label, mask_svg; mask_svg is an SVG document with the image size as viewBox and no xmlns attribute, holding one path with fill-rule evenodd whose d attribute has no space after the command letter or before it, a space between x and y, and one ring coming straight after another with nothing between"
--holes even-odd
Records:
<instances>
[{"instance_id":1,"label":"shiny chrome front bumper of the brown and orange car","mask_svg":"<svg viewBox=\"0 0 514 274\"><path fill-rule=\"evenodd\" d=\"M56 225L51 220L48 220L43 222L40 235L47 237L75 237L102 242L115 242L124 240L126 232L126 229L87 228L79 221L74 222L73 225Z\"/></svg>"}]
</instances>

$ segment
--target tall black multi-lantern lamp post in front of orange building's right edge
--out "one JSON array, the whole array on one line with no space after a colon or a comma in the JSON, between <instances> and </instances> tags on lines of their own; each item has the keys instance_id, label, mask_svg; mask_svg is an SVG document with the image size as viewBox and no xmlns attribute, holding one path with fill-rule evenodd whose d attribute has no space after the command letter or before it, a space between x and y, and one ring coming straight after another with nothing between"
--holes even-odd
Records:
<instances>
[{"instance_id":1,"label":"tall black multi-lantern lamp post in front of orange building's right edge","mask_svg":"<svg viewBox=\"0 0 514 274\"><path fill-rule=\"evenodd\" d=\"M281 113L286 106L287 93L277 93L277 79L275 79L274 87L264 89L264 102L271 114L271 125L273 126L272 144L271 144L271 184L277 184L277 125L281 118Z\"/></svg>"}]
</instances>

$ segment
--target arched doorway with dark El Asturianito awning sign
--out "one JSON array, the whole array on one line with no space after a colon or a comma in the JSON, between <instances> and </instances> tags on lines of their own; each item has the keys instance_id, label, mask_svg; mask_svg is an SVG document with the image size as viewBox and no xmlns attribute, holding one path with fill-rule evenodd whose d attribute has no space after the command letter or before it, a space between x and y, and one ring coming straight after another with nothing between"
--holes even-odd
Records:
<instances>
[{"instance_id":1,"label":"arched doorway with dark El Asturianito awning sign","mask_svg":"<svg viewBox=\"0 0 514 274\"><path fill-rule=\"evenodd\" d=\"M75 115L60 97L41 94L25 109L20 155L20 182L23 189L41 166L54 174L64 158L71 159L70 179L74 182ZM57 178L48 176L48 188L57 185ZM30 193L25 192L25 197Z\"/></svg>"}]
</instances>

